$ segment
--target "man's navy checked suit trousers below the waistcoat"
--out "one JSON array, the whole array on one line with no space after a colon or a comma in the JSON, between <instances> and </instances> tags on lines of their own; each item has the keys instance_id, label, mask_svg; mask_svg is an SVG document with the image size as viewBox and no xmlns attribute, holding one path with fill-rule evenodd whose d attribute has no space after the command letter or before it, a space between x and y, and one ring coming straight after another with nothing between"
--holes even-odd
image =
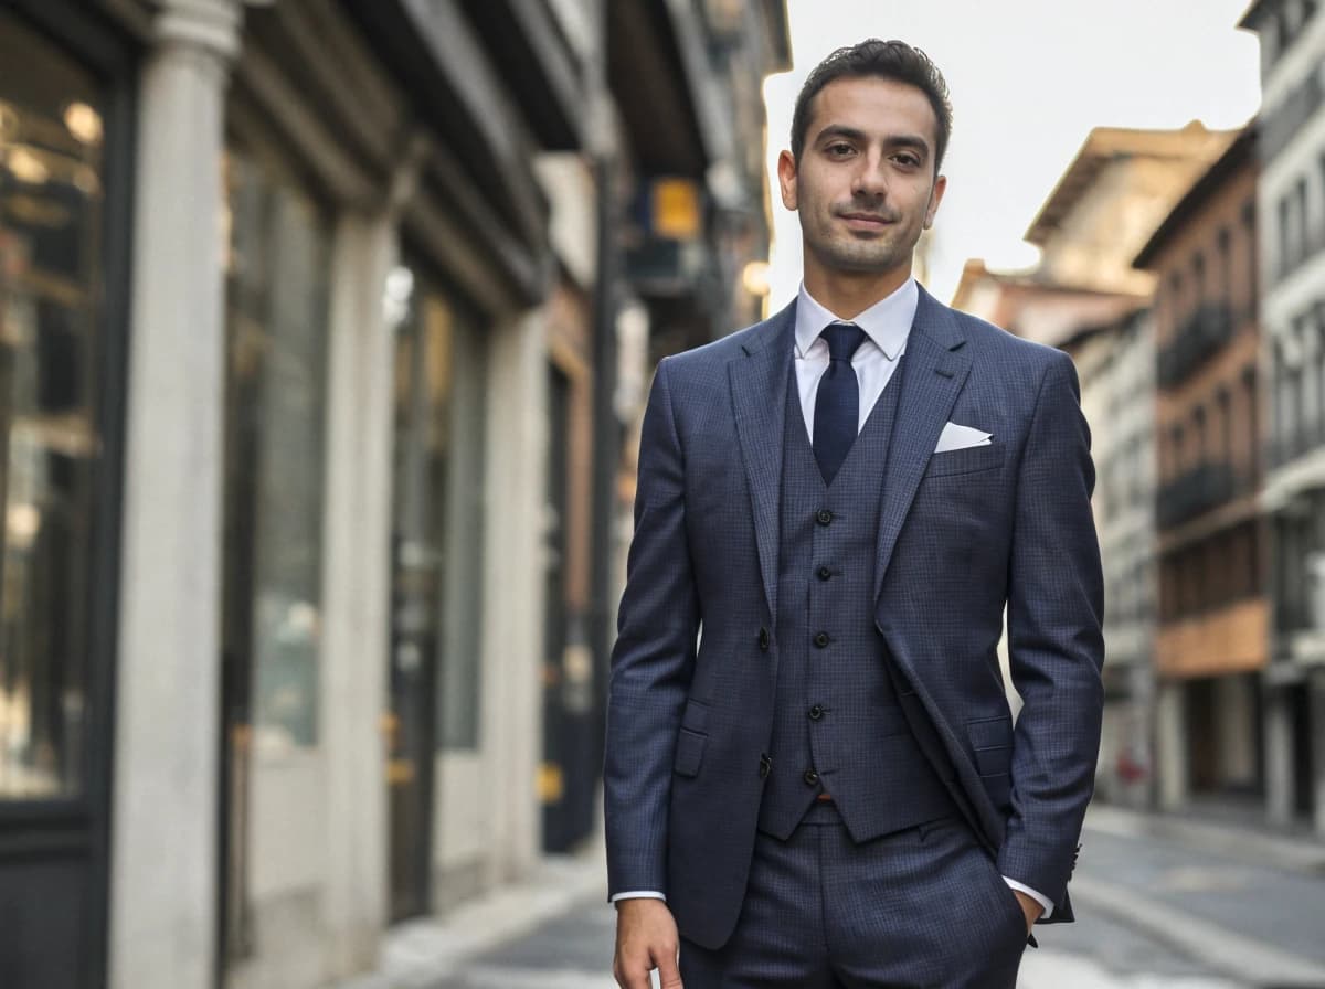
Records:
<instances>
[{"instance_id":1,"label":"man's navy checked suit trousers below the waistcoat","mask_svg":"<svg viewBox=\"0 0 1325 989\"><path fill-rule=\"evenodd\" d=\"M856 845L832 804L761 833L731 939L685 989L1014 989L1026 915L961 817Z\"/></svg>"}]
</instances>

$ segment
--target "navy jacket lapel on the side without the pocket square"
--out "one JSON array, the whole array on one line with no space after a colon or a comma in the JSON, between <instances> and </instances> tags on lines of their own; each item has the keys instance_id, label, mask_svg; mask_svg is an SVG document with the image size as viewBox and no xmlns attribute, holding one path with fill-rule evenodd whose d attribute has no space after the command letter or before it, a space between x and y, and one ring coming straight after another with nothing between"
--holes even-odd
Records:
<instances>
[{"instance_id":1,"label":"navy jacket lapel on the side without the pocket square","mask_svg":"<svg viewBox=\"0 0 1325 989\"><path fill-rule=\"evenodd\" d=\"M745 355L727 364L737 436L754 508L759 573L770 616L778 613L778 545L782 534L778 512L795 327L796 303L792 302L750 334L743 344Z\"/></svg>"}]
</instances>

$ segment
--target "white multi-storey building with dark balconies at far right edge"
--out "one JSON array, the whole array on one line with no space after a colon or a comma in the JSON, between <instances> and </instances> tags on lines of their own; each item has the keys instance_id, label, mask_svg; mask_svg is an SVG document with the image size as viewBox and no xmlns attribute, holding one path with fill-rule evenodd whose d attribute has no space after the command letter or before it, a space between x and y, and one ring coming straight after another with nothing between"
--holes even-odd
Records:
<instances>
[{"instance_id":1,"label":"white multi-storey building with dark balconies at far right edge","mask_svg":"<svg viewBox=\"0 0 1325 989\"><path fill-rule=\"evenodd\" d=\"M1325 16L1257 0L1260 320L1268 422L1272 662L1265 674L1271 820L1325 834Z\"/></svg>"}]
</instances>

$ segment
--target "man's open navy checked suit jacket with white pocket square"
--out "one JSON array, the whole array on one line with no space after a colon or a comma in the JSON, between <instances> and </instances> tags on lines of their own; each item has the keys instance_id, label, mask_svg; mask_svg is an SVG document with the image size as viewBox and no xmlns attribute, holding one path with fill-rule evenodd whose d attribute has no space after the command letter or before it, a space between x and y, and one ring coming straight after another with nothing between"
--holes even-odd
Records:
<instances>
[{"instance_id":1,"label":"man's open navy checked suit jacket with white pocket square","mask_svg":"<svg viewBox=\"0 0 1325 989\"><path fill-rule=\"evenodd\" d=\"M766 630L794 328L792 303L659 365L612 654L610 891L665 894L681 933L714 948L745 895L772 727L778 643ZM897 375L901 405L878 465L876 628L908 719L955 768L999 870L1071 920L1104 662L1076 371L1063 352L922 290ZM935 454L949 421L992 444ZM1015 730L996 658L1004 606L1024 700ZM673 786L678 760L684 788Z\"/></svg>"}]
</instances>

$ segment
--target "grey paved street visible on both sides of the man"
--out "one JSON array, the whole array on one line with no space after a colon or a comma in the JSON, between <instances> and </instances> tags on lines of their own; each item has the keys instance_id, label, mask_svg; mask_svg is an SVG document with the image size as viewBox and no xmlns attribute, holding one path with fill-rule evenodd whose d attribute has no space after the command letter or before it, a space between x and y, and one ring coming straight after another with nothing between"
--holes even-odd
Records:
<instances>
[{"instance_id":1,"label":"grey paved street visible on both sides of the man","mask_svg":"<svg viewBox=\"0 0 1325 989\"><path fill-rule=\"evenodd\" d=\"M1077 923L1041 925L1023 989L1325 986L1325 847L1093 810L1072 880ZM598 898L482 953L432 989L613 989Z\"/></svg>"}]
</instances>

